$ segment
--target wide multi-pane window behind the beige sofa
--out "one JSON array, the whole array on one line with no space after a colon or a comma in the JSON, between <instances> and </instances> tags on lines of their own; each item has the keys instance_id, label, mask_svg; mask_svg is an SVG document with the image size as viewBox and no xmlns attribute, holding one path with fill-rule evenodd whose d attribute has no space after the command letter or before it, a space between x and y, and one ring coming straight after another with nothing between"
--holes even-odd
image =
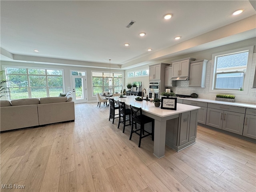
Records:
<instances>
[{"instance_id":1,"label":"wide multi-pane window behind the beige sofa","mask_svg":"<svg viewBox=\"0 0 256 192\"><path fill-rule=\"evenodd\" d=\"M6 67L10 99L54 97L63 92L62 70Z\"/></svg>"}]
</instances>

